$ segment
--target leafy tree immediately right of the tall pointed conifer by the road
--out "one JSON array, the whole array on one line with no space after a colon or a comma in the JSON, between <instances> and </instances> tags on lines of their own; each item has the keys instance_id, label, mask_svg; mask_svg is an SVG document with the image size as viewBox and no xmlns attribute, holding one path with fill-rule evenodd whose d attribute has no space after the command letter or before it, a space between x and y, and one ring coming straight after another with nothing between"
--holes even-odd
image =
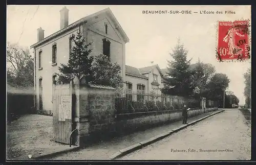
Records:
<instances>
[{"instance_id":1,"label":"leafy tree immediately right of the tall pointed conifer by the road","mask_svg":"<svg viewBox=\"0 0 256 165\"><path fill-rule=\"evenodd\" d=\"M191 68L192 83L194 88L194 96L205 97L207 84L215 74L215 67L208 63L203 63L198 60L195 67Z\"/></svg>"}]
</instances>

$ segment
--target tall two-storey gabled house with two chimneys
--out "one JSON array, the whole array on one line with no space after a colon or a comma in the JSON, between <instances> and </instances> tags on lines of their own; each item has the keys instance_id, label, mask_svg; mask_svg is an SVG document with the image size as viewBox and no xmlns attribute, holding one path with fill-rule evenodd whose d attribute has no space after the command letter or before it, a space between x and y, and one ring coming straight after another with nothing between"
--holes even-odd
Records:
<instances>
[{"instance_id":1,"label":"tall two-storey gabled house with two chimneys","mask_svg":"<svg viewBox=\"0 0 256 165\"><path fill-rule=\"evenodd\" d=\"M106 8L69 25L69 10L65 7L60 10L60 30L45 38L44 30L37 29L37 42L31 46L34 49L37 109L52 110L52 91L59 73L58 66L68 63L74 45L72 38L79 31L86 38L86 43L92 42L91 55L109 56L112 62L121 66L121 76L125 78L125 43L129 38L112 11Z\"/></svg>"}]
</instances>

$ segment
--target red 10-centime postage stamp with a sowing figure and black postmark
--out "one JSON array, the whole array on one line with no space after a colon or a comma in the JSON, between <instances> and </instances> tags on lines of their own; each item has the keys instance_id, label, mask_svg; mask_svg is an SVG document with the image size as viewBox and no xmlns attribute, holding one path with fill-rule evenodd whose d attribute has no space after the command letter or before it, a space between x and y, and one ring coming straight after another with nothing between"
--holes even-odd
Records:
<instances>
[{"instance_id":1,"label":"red 10-centime postage stamp with a sowing figure and black postmark","mask_svg":"<svg viewBox=\"0 0 256 165\"><path fill-rule=\"evenodd\" d=\"M219 61L250 58L249 21L219 21L216 58Z\"/></svg>"}]
</instances>

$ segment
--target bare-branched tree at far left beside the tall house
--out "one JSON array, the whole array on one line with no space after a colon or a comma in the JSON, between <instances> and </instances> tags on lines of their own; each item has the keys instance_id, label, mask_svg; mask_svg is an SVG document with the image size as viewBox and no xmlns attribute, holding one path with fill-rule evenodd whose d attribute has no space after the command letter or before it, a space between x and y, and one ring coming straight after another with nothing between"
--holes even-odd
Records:
<instances>
[{"instance_id":1,"label":"bare-branched tree at far left beside the tall house","mask_svg":"<svg viewBox=\"0 0 256 165\"><path fill-rule=\"evenodd\" d=\"M34 84L34 63L29 49L7 43L7 82L31 87Z\"/></svg>"}]
</instances>

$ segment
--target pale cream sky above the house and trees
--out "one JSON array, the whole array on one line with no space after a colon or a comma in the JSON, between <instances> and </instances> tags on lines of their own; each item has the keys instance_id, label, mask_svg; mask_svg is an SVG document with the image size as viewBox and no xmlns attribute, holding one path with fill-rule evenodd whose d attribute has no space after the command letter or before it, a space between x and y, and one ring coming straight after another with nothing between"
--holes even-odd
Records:
<instances>
[{"instance_id":1,"label":"pale cream sky above the house and trees","mask_svg":"<svg viewBox=\"0 0 256 165\"><path fill-rule=\"evenodd\" d=\"M45 30L45 37L59 30L59 10L64 6L7 6L7 41L29 48L37 41L37 28ZM99 10L110 8L129 37L125 45L125 63L134 67L158 64L167 66L172 60L177 39L188 51L191 63L210 63L216 73L230 79L228 90L244 104L243 74L251 66L250 60L243 62L218 62L215 55L217 45L217 21L251 20L250 6L66 6L69 9L69 24ZM192 14L143 14L143 11L189 11ZM200 14L214 11L215 14ZM223 14L217 14L222 11ZM225 11L235 12L225 14ZM198 13L194 13L198 12Z\"/></svg>"}]
</instances>

